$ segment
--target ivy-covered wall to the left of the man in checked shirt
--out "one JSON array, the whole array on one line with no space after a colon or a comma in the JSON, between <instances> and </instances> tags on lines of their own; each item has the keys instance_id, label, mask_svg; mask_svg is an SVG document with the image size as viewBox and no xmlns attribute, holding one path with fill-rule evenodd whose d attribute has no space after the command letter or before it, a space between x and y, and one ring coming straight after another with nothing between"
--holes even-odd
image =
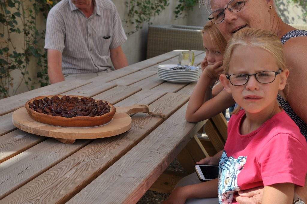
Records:
<instances>
[{"instance_id":1,"label":"ivy-covered wall to the left of the man in checked shirt","mask_svg":"<svg viewBox=\"0 0 307 204\"><path fill-rule=\"evenodd\" d=\"M47 56L43 49L45 29L37 29L37 18L47 18L59 0L2 0L0 2L0 98L16 94L18 88L29 90L35 83L48 85ZM20 44L20 40L23 43ZM29 77L29 63L35 60L38 81ZM20 77L13 78L13 72ZM13 89L13 83L17 86Z\"/></svg>"}]
</instances>

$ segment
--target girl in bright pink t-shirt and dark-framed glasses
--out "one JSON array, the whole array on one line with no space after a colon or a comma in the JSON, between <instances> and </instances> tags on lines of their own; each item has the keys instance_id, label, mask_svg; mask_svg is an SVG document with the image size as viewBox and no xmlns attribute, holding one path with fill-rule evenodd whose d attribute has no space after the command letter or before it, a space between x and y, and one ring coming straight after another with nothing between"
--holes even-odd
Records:
<instances>
[{"instance_id":1,"label":"girl in bright pink t-shirt and dark-framed glasses","mask_svg":"<svg viewBox=\"0 0 307 204\"><path fill-rule=\"evenodd\" d=\"M279 38L241 29L227 44L223 66L220 80L242 109L228 123L219 178L176 188L164 204L206 204L204 198L214 196L219 203L237 203L238 191L258 186L264 186L262 203L293 203L294 185L305 183L307 143L276 100L289 75Z\"/></svg>"}]
</instances>

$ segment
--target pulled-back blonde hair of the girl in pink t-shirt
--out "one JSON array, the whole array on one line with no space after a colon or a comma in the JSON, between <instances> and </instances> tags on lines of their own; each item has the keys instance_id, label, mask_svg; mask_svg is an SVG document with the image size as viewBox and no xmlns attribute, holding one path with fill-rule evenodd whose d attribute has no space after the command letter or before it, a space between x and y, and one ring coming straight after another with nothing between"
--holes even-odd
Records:
<instances>
[{"instance_id":1,"label":"pulled-back blonde hair of the girl in pink t-shirt","mask_svg":"<svg viewBox=\"0 0 307 204\"><path fill-rule=\"evenodd\" d=\"M279 37L269 30L244 28L236 32L227 43L223 59L224 74L228 73L234 50L245 46L258 47L268 51L274 57L272 60L276 61L278 68L286 69L284 50ZM240 108L237 107L231 114L238 113Z\"/></svg>"}]
</instances>

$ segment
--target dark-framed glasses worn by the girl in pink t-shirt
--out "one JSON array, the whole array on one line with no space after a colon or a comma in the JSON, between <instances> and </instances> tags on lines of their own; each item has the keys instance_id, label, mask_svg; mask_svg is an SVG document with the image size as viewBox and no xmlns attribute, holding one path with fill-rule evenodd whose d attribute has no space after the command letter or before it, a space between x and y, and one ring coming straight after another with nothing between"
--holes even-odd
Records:
<instances>
[{"instance_id":1,"label":"dark-framed glasses worn by the girl in pink t-shirt","mask_svg":"<svg viewBox=\"0 0 307 204\"><path fill-rule=\"evenodd\" d=\"M261 84L269 84L272 83L275 80L276 75L280 74L281 72L282 70L279 69L277 72L263 71L255 74L231 74L226 75L226 78L234 86L242 86L246 84L250 76L255 76L256 80Z\"/></svg>"}]
</instances>

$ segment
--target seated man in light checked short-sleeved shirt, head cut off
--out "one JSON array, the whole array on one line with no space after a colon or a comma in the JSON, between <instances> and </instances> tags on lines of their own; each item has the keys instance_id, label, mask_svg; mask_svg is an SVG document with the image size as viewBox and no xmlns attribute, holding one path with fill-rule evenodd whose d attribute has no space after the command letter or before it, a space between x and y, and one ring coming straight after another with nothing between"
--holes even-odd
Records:
<instances>
[{"instance_id":1,"label":"seated man in light checked short-sleeved shirt, head cut off","mask_svg":"<svg viewBox=\"0 0 307 204\"><path fill-rule=\"evenodd\" d=\"M110 0L62 0L49 12L45 49L50 82L87 80L128 65L121 45L127 40Z\"/></svg>"}]
</instances>

